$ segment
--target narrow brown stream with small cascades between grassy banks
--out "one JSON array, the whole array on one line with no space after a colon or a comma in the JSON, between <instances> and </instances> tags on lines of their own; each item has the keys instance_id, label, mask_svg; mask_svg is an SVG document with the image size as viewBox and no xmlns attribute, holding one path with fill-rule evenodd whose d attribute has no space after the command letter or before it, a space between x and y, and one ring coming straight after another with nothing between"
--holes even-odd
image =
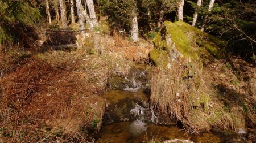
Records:
<instances>
[{"instance_id":1,"label":"narrow brown stream with small cascades between grassy banks","mask_svg":"<svg viewBox=\"0 0 256 143\"><path fill-rule=\"evenodd\" d=\"M126 77L123 90L109 90L103 97L108 102L104 125L96 135L96 142L148 142L165 140L191 140L193 142L246 142L241 136L234 134L206 132L200 135L187 133L176 123L157 125L152 119L154 113L148 108L149 96L144 92L145 81L143 70ZM141 72L141 73L138 73ZM142 74L143 73L143 74ZM139 77L138 77L139 76ZM136 79L136 80L134 80ZM139 85L139 86L138 86ZM159 122L158 122L159 123Z\"/></svg>"}]
</instances>

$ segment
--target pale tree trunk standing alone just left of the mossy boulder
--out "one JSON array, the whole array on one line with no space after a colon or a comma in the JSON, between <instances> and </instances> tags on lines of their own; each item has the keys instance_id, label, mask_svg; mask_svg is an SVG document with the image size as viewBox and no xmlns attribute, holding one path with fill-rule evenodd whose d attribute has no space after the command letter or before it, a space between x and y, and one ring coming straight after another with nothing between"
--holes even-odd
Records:
<instances>
[{"instance_id":1,"label":"pale tree trunk standing alone just left of the mossy boulder","mask_svg":"<svg viewBox=\"0 0 256 143\"><path fill-rule=\"evenodd\" d=\"M131 11L133 17L132 17L132 23L131 23L131 38L134 42L139 41L139 32L138 32L138 21L137 21L137 15L134 10Z\"/></svg>"}]
</instances>

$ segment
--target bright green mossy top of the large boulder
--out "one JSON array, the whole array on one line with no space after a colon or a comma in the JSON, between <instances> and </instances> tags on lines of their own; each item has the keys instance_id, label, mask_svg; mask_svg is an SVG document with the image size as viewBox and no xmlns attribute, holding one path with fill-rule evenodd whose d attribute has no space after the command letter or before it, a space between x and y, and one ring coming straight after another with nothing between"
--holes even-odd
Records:
<instances>
[{"instance_id":1,"label":"bright green mossy top of the large boulder","mask_svg":"<svg viewBox=\"0 0 256 143\"><path fill-rule=\"evenodd\" d=\"M202 62L204 58L222 58L220 49L225 46L216 37L181 21L164 22L164 27L153 42L154 49L150 51L150 58L162 69L170 68L170 62L180 57Z\"/></svg>"}]
</instances>

